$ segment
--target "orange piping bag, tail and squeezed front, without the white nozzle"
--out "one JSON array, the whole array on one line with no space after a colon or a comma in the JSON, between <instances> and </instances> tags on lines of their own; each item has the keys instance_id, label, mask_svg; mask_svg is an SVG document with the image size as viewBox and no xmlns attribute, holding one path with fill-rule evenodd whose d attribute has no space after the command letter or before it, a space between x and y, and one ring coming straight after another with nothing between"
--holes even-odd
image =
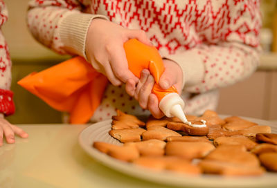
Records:
<instances>
[{"instance_id":1,"label":"orange piping bag, tail and squeezed front, without the white nozzle","mask_svg":"<svg viewBox=\"0 0 277 188\"><path fill-rule=\"evenodd\" d=\"M157 48L147 46L137 39L130 39L125 42L124 49L129 70L136 77L141 77L141 71L145 68L148 68L153 75L156 83L152 93L157 95L160 104L166 95L177 94L174 86L167 90L159 86L159 78L164 67ZM69 112L71 123L82 124L87 122L96 111L108 81L84 58L74 57L39 73L31 73L17 83L40 97L53 109ZM165 114L170 116L170 113Z\"/></svg>"}]
</instances>

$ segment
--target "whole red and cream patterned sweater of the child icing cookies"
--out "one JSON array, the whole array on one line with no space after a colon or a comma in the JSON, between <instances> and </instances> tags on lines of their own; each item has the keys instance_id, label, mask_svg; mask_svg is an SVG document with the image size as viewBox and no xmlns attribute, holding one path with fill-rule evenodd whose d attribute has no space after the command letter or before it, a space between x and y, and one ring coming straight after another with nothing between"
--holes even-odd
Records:
<instances>
[{"instance_id":1,"label":"whole red and cream patterned sweater of the child icing cookies","mask_svg":"<svg viewBox=\"0 0 277 188\"><path fill-rule=\"evenodd\" d=\"M29 6L28 28L57 53L85 57L96 17L145 30L161 56L182 68L186 113L215 110L218 88L249 77L259 63L258 0L33 0ZM93 120L110 118L116 108L146 113L123 88L108 86Z\"/></svg>"}]
</instances>

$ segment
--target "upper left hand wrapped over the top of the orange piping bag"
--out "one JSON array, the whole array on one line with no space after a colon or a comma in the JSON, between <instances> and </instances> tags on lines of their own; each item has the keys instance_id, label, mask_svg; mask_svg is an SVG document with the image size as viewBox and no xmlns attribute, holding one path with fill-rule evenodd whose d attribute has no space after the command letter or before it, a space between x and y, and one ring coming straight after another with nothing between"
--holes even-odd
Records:
<instances>
[{"instance_id":1,"label":"upper left hand wrapped over the top of the orange piping bag","mask_svg":"<svg viewBox=\"0 0 277 188\"><path fill-rule=\"evenodd\" d=\"M87 32L86 55L93 68L107 76L111 84L118 86L132 79L139 79L129 71L123 44L136 38L151 45L143 30L129 30L105 19L93 19ZM134 88L133 88L134 90Z\"/></svg>"}]
</instances>

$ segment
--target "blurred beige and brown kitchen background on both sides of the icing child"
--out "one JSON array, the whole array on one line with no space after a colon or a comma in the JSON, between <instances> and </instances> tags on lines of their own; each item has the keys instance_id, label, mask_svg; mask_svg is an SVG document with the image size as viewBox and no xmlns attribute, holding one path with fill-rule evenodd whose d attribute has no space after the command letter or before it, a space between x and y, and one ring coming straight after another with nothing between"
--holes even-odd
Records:
<instances>
[{"instance_id":1,"label":"blurred beige and brown kitchen background on both sides of the icing child","mask_svg":"<svg viewBox=\"0 0 277 188\"><path fill-rule=\"evenodd\" d=\"M39 44L26 27L26 10L29 0L6 0L9 10L8 22L3 33L8 41L12 57L12 91L15 93L15 115L8 118L14 124L58 123L62 113L51 109L47 104L28 93L16 83L33 71L62 62L69 58L48 50ZM262 0L264 28L262 45L267 53L261 57L258 71L233 86L222 88L217 112L229 115L242 115L266 120L277 120L277 14L276 0Z\"/></svg>"}]
</instances>

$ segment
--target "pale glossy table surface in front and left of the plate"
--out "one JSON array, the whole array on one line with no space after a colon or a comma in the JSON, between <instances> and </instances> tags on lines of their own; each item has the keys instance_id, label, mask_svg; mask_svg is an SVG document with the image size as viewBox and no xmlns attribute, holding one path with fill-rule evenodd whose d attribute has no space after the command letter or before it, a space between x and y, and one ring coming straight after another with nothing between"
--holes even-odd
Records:
<instances>
[{"instance_id":1,"label":"pale glossy table surface in front and left of the plate","mask_svg":"<svg viewBox=\"0 0 277 188\"><path fill-rule=\"evenodd\" d=\"M29 138L0 147L0 187L167 187L96 162L78 144L88 125L19 125Z\"/></svg>"}]
</instances>

